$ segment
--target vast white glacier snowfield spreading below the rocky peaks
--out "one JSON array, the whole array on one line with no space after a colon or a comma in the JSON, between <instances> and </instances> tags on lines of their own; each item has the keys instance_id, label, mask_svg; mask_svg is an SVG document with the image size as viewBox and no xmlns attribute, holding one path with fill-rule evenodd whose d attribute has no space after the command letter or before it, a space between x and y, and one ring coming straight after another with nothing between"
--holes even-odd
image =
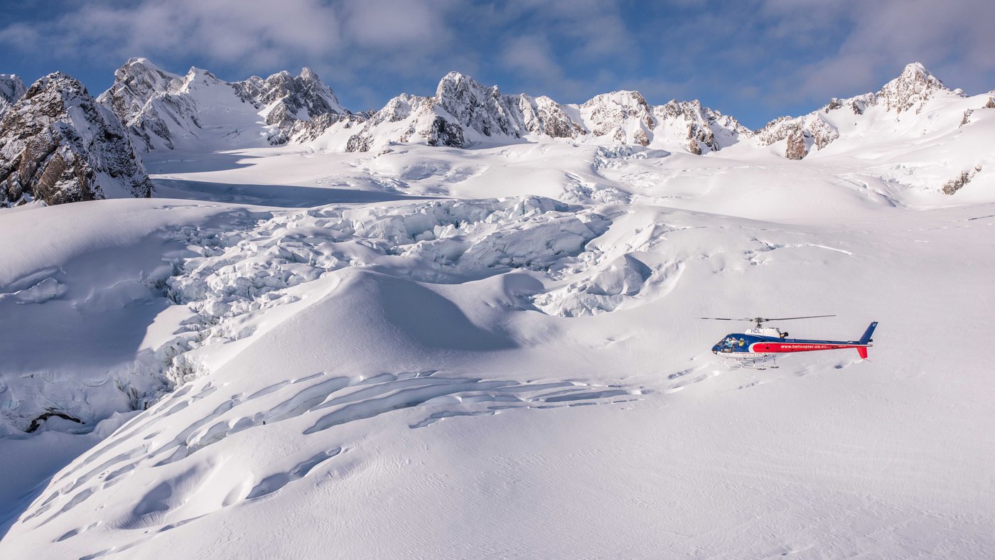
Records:
<instances>
[{"instance_id":1,"label":"vast white glacier snowfield spreading below the rocky peaks","mask_svg":"<svg viewBox=\"0 0 995 560\"><path fill-rule=\"evenodd\" d=\"M0 211L0 557L995 547L987 96L792 160L694 103L534 98L518 129L464 86L396 99L391 151L160 150L175 199ZM475 149L422 145L436 117ZM778 326L879 320L871 360L729 369L745 323L696 318L832 313Z\"/></svg>"}]
</instances>

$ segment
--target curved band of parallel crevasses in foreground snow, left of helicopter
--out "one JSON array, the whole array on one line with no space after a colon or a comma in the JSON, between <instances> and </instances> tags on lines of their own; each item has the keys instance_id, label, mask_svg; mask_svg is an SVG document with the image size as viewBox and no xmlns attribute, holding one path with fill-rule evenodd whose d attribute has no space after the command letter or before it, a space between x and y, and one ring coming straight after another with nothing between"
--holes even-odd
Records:
<instances>
[{"instance_id":1,"label":"curved band of parallel crevasses in foreground snow, left of helicopter","mask_svg":"<svg viewBox=\"0 0 995 560\"><path fill-rule=\"evenodd\" d=\"M90 557L119 552L205 515L269 496L318 469L327 476L354 468L349 459L363 446L356 435L363 423L381 415L412 409L400 422L410 429L430 428L453 417L497 415L515 410L553 409L598 403L625 403L644 391L579 382L532 383L487 380L462 372L399 372L371 377L317 373L261 386L261 379L200 380L160 401L140 419L123 426L114 443L95 448L64 470L40 496L22 524L64 525L78 507L104 509L100 498L115 488L140 484L144 490L121 506L100 513L100 521L62 532L56 542L87 532L125 531L124 542ZM230 393L220 406L207 397ZM212 408L214 407L214 408ZM168 419L168 420L167 420ZM346 429L356 424L356 428ZM286 457L263 463L247 461L252 451L242 442L249 432L267 438L307 438L307 445ZM297 436L293 436L296 434ZM125 443L126 442L126 443ZM207 448L224 448L206 454ZM125 451L121 452L121 449ZM236 461L236 456L242 460ZM220 458L228 458L219 460ZM256 464L257 467L253 467ZM152 474L154 478L148 479ZM314 476L314 475L311 475ZM145 481L151 480L151 481Z\"/></svg>"}]
</instances>

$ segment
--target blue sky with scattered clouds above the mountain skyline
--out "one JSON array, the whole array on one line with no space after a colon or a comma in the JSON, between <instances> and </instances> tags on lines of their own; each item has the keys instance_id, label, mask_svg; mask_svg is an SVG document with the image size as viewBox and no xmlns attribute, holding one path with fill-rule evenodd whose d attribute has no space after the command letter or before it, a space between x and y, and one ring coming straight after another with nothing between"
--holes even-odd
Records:
<instances>
[{"instance_id":1,"label":"blue sky with scattered clouds above the mountain skyline","mask_svg":"<svg viewBox=\"0 0 995 560\"><path fill-rule=\"evenodd\" d=\"M306 66L365 109L456 70L560 102L698 98L758 127L910 62L990 91L993 21L991 0L0 0L0 73L61 70L96 94L130 57L230 81Z\"/></svg>"}]
</instances>

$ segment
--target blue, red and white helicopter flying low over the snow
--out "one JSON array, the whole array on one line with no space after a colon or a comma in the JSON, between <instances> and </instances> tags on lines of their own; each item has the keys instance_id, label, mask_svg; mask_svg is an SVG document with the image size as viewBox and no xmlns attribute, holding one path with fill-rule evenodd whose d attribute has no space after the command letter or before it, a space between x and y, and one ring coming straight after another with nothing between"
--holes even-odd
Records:
<instances>
[{"instance_id":1,"label":"blue, red and white helicopter flying low over the snow","mask_svg":"<svg viewBox=\"0 0 995 560\"><path fill-rule=\"evenodd\" d=\"M864 331L858 340L808 340L803 338L788 338L787 331L782 332L776 327L765 327L763 323L770 321L787 321L795 319L813 319L820 317L835 317L836 315L808 315L804 317L746 317L741 319L728 317L699 317L706 320L717 321L750 321L754 323L752 328L748 328L741 333L730 333L725 335L717 344L711 347L711 353L736 362L736 365L726 365L730 367L752 367L756 369L766 369L758 367L768 360L774 360L778 354L793 352L812 352L815 350L840 350L844 348L857 348L857 353L861 358L867 359L868 348L872 346L874 340L871 335L878 326L878 321L874 321ZM772 365L769 367L777 367Z\"/></svg>"}]
</instances>

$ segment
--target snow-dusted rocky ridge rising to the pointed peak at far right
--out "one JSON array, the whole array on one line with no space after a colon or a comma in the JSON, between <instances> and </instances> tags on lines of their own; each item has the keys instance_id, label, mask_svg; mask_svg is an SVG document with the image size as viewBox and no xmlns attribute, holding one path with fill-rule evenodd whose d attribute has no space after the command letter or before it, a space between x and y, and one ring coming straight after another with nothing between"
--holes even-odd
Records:
<instances>
[{"instance_id":1,"label":"snow-dusted rocky ridge rising to the pointed peak at far right","mask_svg":"<svg viewBox=\"0 0 995 560\"><path fill-rule=\"evenodd\" d=\"M785 157L801 159L813 149L821 150L840 137L840 121L847 117L859 126L867 121L866 112L877 109L900 118L903 112L919 113L937 96L959 96L943 86L920 63L905 66L901 74L878 93L863 93L847 98L833 97L829 103L801 116L780 116L756 130L759 145L787 139ZM850 118L852 117L852 118ZM805 148L802 149L804 140Z\"/></svg>"}]
</instances>

